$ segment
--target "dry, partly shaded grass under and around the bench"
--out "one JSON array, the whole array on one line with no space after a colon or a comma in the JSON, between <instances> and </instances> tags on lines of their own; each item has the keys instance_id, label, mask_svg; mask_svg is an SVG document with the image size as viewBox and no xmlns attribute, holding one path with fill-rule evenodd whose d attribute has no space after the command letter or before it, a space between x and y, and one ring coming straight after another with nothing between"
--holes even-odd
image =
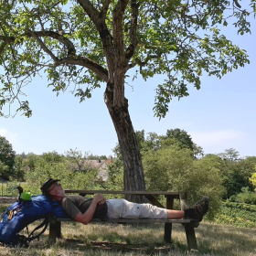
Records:
<instances>
[{"instance_id":1,"label":"dry, partly shaded grass under and around the bench","mask_svg":"<svg viewBox=\"0 0 256 256\"><path fill-rule=\"evenodd\" d=\"M2 206L3 207L3 206ZM37 223L29 225L32 230ZM173 225L173 243L163 240L164 225L63 223L63 239L48 246L48 230L28 249L1 247L0 255L256 255L256 229L203 222L196 229L198 252L187 251L183 226ZM26 232L25 232L26 234Z\"/></svg>"}]
</instances>

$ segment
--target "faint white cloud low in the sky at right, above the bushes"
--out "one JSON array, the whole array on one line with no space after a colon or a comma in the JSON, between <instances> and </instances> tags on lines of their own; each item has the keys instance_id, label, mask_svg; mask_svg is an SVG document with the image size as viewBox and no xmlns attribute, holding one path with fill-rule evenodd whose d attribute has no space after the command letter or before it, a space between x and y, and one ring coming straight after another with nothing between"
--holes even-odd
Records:
<instances>
[{"instance_id":1,"label":"faint white cloud low in the sky at right, above the bushes","mask_svg":"<svg viewBox=\"0 0 256 256\"><path fill-rule=\"evenodd\" d=\"M210 132L190 132L193 142L204 146L215 146L232 143L234 140L241 141L246 138L245 133L232 130L227 131L210 131Z\"/></svg>"}]
</instances>

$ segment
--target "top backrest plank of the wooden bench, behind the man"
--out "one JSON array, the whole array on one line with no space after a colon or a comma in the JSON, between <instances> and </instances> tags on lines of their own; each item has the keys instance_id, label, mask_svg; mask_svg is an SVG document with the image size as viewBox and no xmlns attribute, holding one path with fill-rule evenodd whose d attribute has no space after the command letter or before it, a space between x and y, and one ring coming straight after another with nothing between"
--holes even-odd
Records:
<instances>
[{"instance_id":1,"label":"top backrest plank of the wooden bench, behind the man","mask_svg":"<svg viewBox=\"0 0 256 256\"><path fill-rule=\"evenodd\" d=\"M167 195L173 196L174 198L179 198L179 192L166 192L166 191L112 191L112 190L85 190L85 189L64 189L65 193L77 193L77 194L113 194L113 195Z\"/></svg>"}]
</instances>

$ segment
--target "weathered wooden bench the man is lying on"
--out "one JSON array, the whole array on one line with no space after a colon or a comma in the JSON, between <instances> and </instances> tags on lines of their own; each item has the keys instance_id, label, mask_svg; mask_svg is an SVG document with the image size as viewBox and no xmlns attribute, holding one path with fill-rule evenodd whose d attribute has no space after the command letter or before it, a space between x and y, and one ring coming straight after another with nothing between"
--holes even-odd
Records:
<instances>
[{"instance_id":1,"label":"weathered wooden bench the man is lying on","mask_svg":"<svg viewBox=\"0 0 256 256\"><path fill-rule=\"evenodd\" d=\"M112 194L112 195L136 195L136 196L144 196L146 197L153 205L159 208L174 208L174 199L179 199L180 208L186 209L189 208L187 203L187 194L179 193L179 192L165 192L165 191L152 191L152 192L144 192L144 191L101 191L101 190L78 190L78 189L65 189L65 193L75 193L80 194L81 196L86 195L94 195L94 194ZM166 198L166 207L164 207L155 196L164 195ZM48 241L49 244L53 244L56 242L57 238L61 238L61 222L64 221L74 221L69 218L50 218L49 219L49 236ZM165 241L171 243L172 238L172 224L179 223L184 226L186 237L187 237L187 247L188 250L196 250L197 251L197 239L195 235L195 229L199 226L199 222L197 219L92 219L91 223L95 222L108 222L108 223L165 223Z\"/></svg>"}]
</instances>

